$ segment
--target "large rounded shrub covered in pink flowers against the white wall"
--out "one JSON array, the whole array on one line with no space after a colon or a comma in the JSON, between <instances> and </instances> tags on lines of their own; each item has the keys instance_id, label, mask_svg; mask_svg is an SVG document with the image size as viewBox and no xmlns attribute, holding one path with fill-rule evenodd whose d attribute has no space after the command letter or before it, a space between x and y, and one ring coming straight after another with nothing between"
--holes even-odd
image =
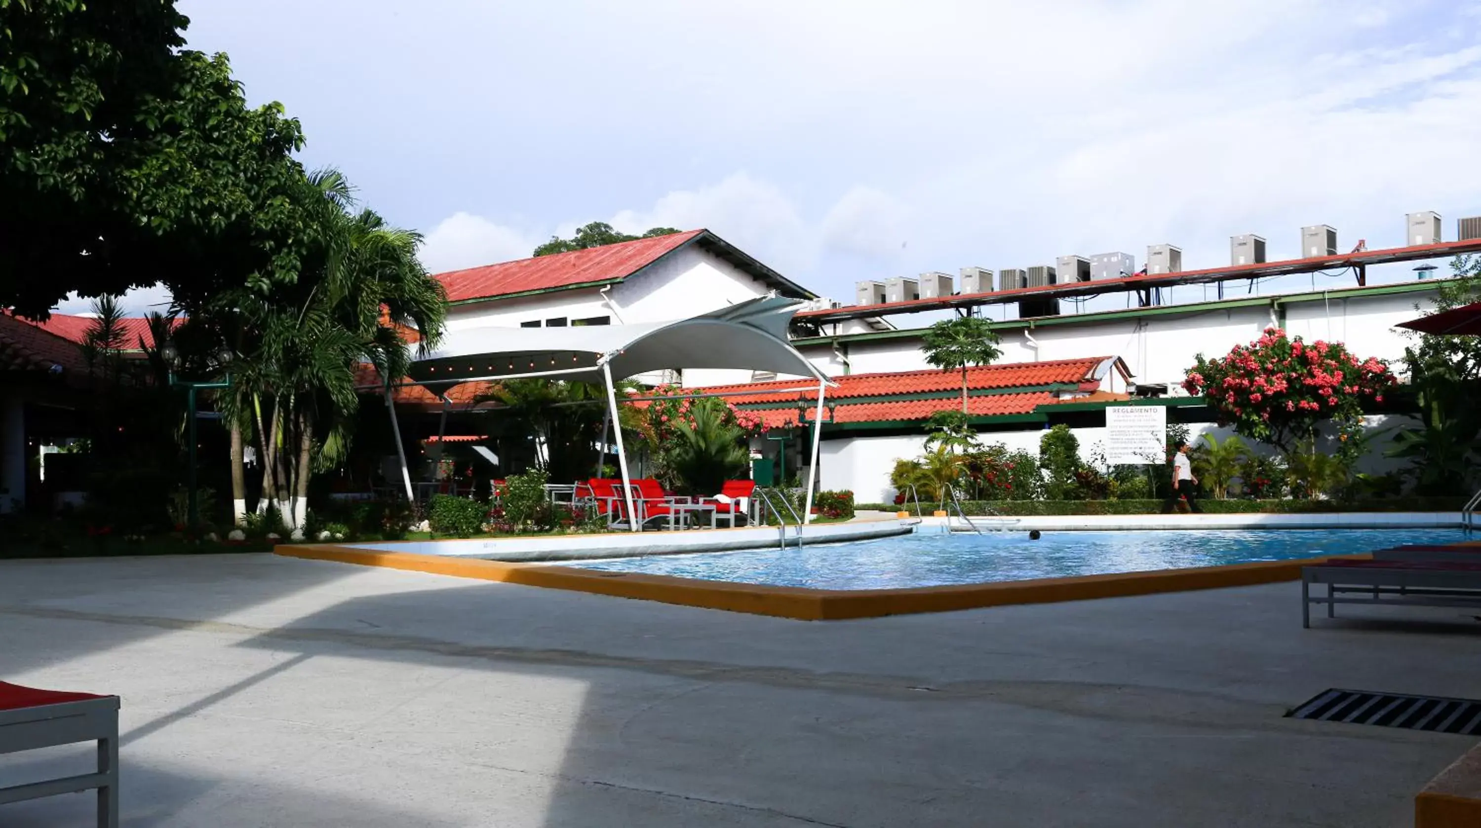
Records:
<instances>
[{"instance_id":1,"label":"large rounded shrub covered in pink flowers against the white wall","mask_svg":"<svg viewBox=\"0 0 1481 828\"><path fill-rule=\"evenodd\" d=\"M1223 357L1200 355L1183 388L1208 400L1220 424L1290 453L1314 438L1321 421L1357 424L1363 404L1382 403L1394 382L1383 360L1358 360L1342 342L1308 345L1300 336L1291 339L1280 327L1268 327Z\"/></svg>"}]
</instances>

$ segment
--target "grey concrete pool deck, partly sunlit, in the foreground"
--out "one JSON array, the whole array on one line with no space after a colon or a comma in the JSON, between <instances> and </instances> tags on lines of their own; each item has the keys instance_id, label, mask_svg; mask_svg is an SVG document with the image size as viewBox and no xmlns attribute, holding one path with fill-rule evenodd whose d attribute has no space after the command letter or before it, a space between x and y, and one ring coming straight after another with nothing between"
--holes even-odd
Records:
<instances>
[{"instance_id":1,"label":"grey concrete pool deck, partly sunlit, in the foreground","mask_svg":"<svg viewBox=\"0 0 1481 828\"><path fill-rule=\"evenodd\" d=\"M1297 595L797 624L267 554L0 561L0 678L123 696L127 828L1407 827L1472 739L1283 712L1475 696L1481 624L1303 631Z\"/></svg>"}]
</instances>

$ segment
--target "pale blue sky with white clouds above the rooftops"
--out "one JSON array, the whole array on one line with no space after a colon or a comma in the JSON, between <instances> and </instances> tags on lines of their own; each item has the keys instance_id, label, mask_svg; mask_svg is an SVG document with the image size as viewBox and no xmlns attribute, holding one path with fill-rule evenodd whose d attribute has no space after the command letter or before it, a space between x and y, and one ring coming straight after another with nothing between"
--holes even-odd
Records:
<instances>
[{"instance_id":1,"label":"pale blue sky with white clouds above the rooftops","mask_svg":"<svg viewBox=\"0 0 1481 828\"><path fill-rule=\"evenodd\" d=\"M227 52L250 102L281 101L304 163L421 231L432 271L591 221L706 227L852 301L862 278L966 265L1124 250L1140 267L1155 243L1217 267L1238 233L1296 258L1312 224L1343 252L1389 247L1417 210L1451 240L1481 215L1474 3L179 7L190 47ZM1291 286L1308 281L1351 284Z\"/></svg>"}]
</instances>

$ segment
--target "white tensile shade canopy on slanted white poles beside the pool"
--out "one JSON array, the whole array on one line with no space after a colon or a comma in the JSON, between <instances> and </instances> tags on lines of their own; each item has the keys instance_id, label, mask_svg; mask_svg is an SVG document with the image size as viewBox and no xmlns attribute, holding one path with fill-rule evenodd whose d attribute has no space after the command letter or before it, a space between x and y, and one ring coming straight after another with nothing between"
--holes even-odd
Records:
<instances>
[{"instance_id":1,"label":"white tensile shade canopy on slanted white poles beside the pool","mask_svg":"<svg viewBox=\"0 0 1481 828\"><path fill-rule=\"evenodd\" d=\"M638 373L663 369L751 369L812 376L818 381L818 415L803 513L803 520L809 520L828 378L786 339L786 327L800 307L801 302L795 299L770 295L675 321L449 330L435 351L412 363L410 378L434 393L461 382L532 376L600 381L607 388L609 416L612 422L618 422L613 381ZM628 489L631 478L622 430L616 428L615 435L624 492L628 493L628 523L637 530L640 526ZM404 467L403 461L403 477L410 492L410 475Z\"/></svg>"}]
</instances>

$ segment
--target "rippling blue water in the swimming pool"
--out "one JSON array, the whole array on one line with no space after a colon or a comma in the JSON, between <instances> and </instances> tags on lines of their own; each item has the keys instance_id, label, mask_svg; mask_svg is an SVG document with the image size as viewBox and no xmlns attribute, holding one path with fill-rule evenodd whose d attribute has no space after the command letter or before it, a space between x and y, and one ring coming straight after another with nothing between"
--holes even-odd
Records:
<instances>
[{"instance_id":1,"label":"rippling blue water in the swimming pool","mask_svg":"<svg viewBox=\"0 0 1481 828\"><path fill-rule=\"evenodd\" d=\"M801 550L644 555L572 566L818 590L897 590L1293 560L1463 539L1459 529L1044 532L1038 541L1017 530L918 532Z\"/></svg>"}]
</instances>

